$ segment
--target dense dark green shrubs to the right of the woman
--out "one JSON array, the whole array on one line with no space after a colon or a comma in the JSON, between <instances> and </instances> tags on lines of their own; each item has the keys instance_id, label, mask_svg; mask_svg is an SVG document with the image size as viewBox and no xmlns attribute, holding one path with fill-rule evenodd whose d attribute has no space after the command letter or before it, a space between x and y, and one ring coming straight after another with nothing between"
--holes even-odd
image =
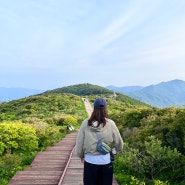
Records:
<instances>
[{"instance_id":1,"label":"dense dark green shrubs to the right of the woman","mask_svg":"<svg viewBox=\"0 0 185 185\"><path fill-rule=\"evenodd\" d=\"M119 184L185 183L184 109L128 108L110 117L125 141L115 163Z\"/></svg>"}]
</instances>

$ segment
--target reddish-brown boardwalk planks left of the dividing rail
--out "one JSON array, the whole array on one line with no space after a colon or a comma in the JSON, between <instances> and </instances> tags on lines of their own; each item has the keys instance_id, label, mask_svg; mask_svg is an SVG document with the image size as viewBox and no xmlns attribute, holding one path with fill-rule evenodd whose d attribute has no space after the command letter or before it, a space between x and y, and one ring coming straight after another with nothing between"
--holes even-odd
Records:
<instances>
[{"instance_id":1,"label":"reddish-brown boardwalk planks left of the dividing rail","mask_svg":"<svg viewBox=\"0 0 185 185\"><path fill-rule=\"evenodd\" d=\"M68 134L55 146L39 152L31 167L17 172L8 185L58 185L73 152L76 135L76 132Z\"/></svg>"}]
</instances>

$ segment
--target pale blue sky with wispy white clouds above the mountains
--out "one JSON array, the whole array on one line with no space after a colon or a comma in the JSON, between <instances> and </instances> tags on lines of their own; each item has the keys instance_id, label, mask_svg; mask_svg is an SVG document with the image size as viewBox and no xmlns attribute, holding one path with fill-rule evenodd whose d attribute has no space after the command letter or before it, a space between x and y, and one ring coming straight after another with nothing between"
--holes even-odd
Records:
<instances>
[{"instance_id":1,"label":"pale blue sky with wispy white clouds above the mountains","mask_svg":"<svg viewBox=\"0 0 185 185\"><path fill-rule=\"evenodd\" d=\"M184 0L0 1L0 87L185 80Z\"/></svg>"}]
</instances>

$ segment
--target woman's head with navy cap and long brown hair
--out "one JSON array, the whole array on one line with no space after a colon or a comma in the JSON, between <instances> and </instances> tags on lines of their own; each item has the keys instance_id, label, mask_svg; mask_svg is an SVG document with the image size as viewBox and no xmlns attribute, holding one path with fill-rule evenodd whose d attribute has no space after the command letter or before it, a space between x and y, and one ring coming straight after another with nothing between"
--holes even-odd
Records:
<instances>
[{"instance_id":1,"label":"woman's head with navy cap and long brown hair","mask_svg":"<svg viewBox=\"0 0 185 185\"><path fill-rule=\"evenodd\" d=\"M107 102L103 98L97 98L94 101L94 110L88 120L88 125L91 126L93 122L97 121L98 126L103 124L105 126L106 119L108 118Z\"/></svg>"}]
</instances>

